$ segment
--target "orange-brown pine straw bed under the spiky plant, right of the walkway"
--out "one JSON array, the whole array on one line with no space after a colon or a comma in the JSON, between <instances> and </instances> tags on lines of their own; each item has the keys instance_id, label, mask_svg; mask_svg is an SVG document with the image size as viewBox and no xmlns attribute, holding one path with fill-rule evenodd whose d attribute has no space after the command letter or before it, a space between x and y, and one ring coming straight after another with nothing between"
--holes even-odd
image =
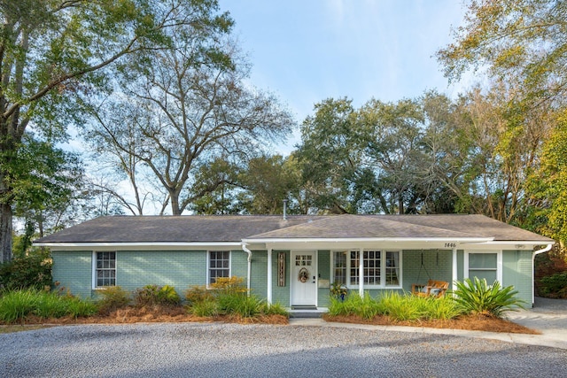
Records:
<instances>
[{"instance_id":1,"label":"orange-brown pine straw bed under the spiky plant, right of the walkway","mask_svg":"<svg viewBox=\"0 0 567 378\"><path fill-rule=\"evenodd\" d=\"M323 315L326 321L336 321L341 323L373 324L377 326L408 326L424 328L451 328L468 329L471 331L485 332L504 332L511 334L541 335L540 331L520 326L513 321L496 318L486 314L459 316L451 320L392 320L387 316L377 316L374 319L366 320L359 316L330 316Z\"/></svg>"}]
</instances>

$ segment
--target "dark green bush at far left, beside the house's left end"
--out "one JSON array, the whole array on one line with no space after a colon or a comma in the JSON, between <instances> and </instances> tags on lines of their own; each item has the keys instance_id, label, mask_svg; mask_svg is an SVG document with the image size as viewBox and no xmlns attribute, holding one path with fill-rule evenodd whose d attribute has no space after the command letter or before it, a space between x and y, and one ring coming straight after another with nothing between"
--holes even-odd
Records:
<instances>
[{"instance_id":1,"label":"dark green bush at far left, beside the house's left end","mask_svg":"<svg viewBox=\"0 0 567 378\"><path fill-rule=\"evenodd\" d=\"M51 260L48 253L14 258L0 264L0 288L41 290L50 286L51 281Z\"/></svg>"}]
</instances>

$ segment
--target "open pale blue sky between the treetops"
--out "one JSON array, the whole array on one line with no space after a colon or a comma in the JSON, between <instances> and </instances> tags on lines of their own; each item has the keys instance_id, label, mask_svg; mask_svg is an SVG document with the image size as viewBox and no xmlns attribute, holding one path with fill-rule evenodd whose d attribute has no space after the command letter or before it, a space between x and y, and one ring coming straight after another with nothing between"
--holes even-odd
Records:
<instances>
[{"instance_id":1,"label":"open pale blue sky between the treetops","mask_svg":"<svg viewBox=\"0 0 567 378\"><path fill-rule=\"evenodd\" d=\"M454 97L434 57L462 25L461 0L219 0L252 63L250 84L273 92L300 124L326 98L359 107L437 89ZM299 130L277 152L288 153Z\"/></svg>"}]
</instances>

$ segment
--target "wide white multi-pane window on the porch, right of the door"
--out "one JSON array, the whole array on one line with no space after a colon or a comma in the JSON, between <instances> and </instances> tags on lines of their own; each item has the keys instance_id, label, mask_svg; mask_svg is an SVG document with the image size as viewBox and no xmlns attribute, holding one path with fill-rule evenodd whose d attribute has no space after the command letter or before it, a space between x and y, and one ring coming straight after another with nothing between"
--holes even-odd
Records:
<instances>
[{"instance_id":1,"label":"wide white multi-pane window on the porch, right of the door","mask_svg":"<svg viewBox=\"0 0 567 378\"><path fill-rule=\"evenodd\" d=\"M399 287L400 251L362 251L364 286ZM361 251L333 253L333 282L358 286Z\"/></svg>"}]
</instances>

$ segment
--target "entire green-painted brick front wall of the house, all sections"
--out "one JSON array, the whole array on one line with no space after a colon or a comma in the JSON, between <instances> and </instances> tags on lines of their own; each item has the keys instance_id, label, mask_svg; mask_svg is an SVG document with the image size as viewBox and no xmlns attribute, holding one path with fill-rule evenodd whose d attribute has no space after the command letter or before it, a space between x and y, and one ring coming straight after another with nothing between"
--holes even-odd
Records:
<instances>
[{"instance_id":1,"label":"entire green-painted brick front wall of the house, all sections","mask_svg":"<svg viewBox=\"0 0 567 378\"><path fill-rule=\"evenodd\" d=\"M282 305L290 305L290 251L285 252L285 286L277 286L277 256L272 251L272 299ZM423 253L423 266L421 256ZM52 251L53 281L69 289L74 295L91 297L92 252ZM463 251L457 252L458 279L462 281ZM247 253L231 252L231 274L247 276ZM431 279L452 282L452 251L415 250L402 252L402 287L410 291L412 283L424 283ZM117 284L134 290L147 284L173 285L183 297L186 289L193 285L206 285L206 251L117 251ZM330 280L330 252L318 251L318 274L320 280ZM502 254L503 286L514 285L527 306L532 305L532 251L504 251ZM252 252L252 293L260 298L267 294L267 251ZM356 290L353 290L356 291ZM390 289L371 289L377 296ZM396 291L396 290L394 290ZM399 290L402 292L402 290ZM329 305L329 289L318 289L318 305Z\"/></svg>"}]
</instances>

